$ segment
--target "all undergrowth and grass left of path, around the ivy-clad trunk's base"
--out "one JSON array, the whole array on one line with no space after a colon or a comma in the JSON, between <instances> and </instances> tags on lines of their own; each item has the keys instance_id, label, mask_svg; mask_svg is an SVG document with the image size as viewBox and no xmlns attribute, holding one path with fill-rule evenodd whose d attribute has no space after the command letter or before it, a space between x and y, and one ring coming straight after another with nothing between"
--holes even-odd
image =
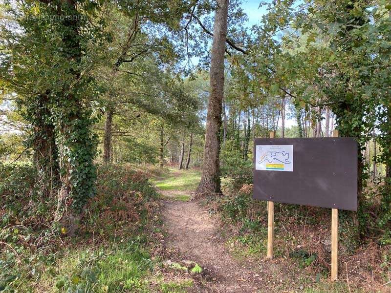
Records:
<instances>
[{"instance_id":1,"label":"all undergrowth and grass left of path, around the ivy-clad trunk's base","mask_svg":"<svg viewBox=\"0 0 391 293\"><path fill-rule=\"evenodd\" d=\"M0 168L0 291L164 292L147 277L158 195L146 172L99 166L97 195L70 238L51 227L55 198L34 193L34 168Z\"/></svg>"}]
</instances>

